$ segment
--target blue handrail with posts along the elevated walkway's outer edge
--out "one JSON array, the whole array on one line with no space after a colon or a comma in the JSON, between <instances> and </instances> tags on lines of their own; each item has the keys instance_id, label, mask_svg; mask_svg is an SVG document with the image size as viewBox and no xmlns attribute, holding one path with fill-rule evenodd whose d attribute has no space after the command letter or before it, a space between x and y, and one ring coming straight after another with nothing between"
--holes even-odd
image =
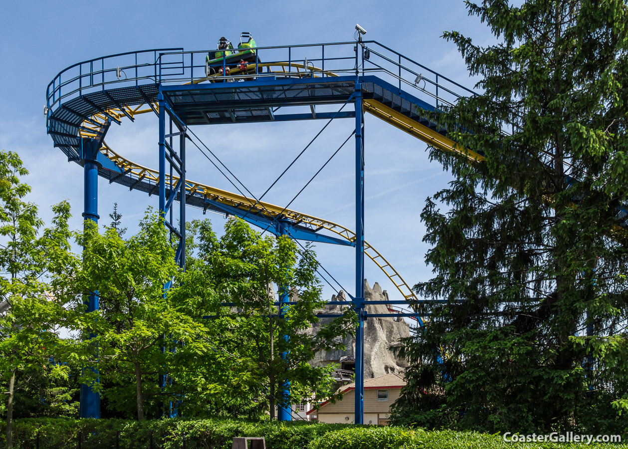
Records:
<instances>
[{"instance_id":1,"label":"blue handrail with posts along the elevated walkway's outer edge","mask_svg":"<svg viewBox=\"0 0 628 449\"><path fill-rule=\"evenodd\" d=\"M343 47L347 48L344 49ZM308 55L307 52L317 48L320 49L320 53L317 55L311 55L310 53ZM333 48L336 50L333 50ZM360 48L362 51L359 51ZM237 51L237 49L234 50ZM372 65L376 67L376 70L386 73L387 76L398 82L399 88L401 88L401 84L404 84L416 88L422 94L428 95L431 100L436 101L436 107L439 104L453 104L451 99L443 97L442 94L453 95L454 98L460 98L463 94L476 95L474 91L467 87L374 40L258 46L255 50L255 75L257 77L273 76L261 71L263 67L261 67L260 63L262 61L264 63L288 62L288 67L291 68L304 62L306 59L308 63L320 63L320 67L322 67L320 74L322 76L344 72L352 74L361 72L364 75L367 72L374 71L372 67L365 67ZM369 58L364 57L365 51L370 52ZM70 65L70 67L57 73L46 88L46 119L49 119L51 112L62 104L63 99L67 99L77 92L79 95L82 95L85 90L89 92L98 88L104 90L105 85L109 84L134 83L138 85L142 80L151 80L158 84L180 82L181 80L193 81L203 78L203 76L199 76L199 73L205 69L204 56L206 53L207 50L185 51L183 48L154 48L151 50L116 53ZM152 57L146 58L147 55ZM133 61L129 63L128 60L123 62L116 61L116 59L129 56L134 56L134 63ZM267 58L267 56L270 56L270 58ZM172 57L178 57L178 59L175 61L169 60ZM261 60L258 63L257 60L259 59ZM416 67L408 67L408 63ZM133 71L135 73L130 73L131 76L125 78L118 78L115 75L112 77L112 74L117 73L117 69L124 73ZM435 75L436 79L432 79L431 76L424 76L418 69ZM173 70L176 73L171 73ZM288 70L288 72L291 72L291 70ZM414 79L408 78L409 75L413 77L421 75L422 80L425 80L431 86L430 89L419 87L413 82ZM68 78L63 80L65 77ZM84 80L87 80L87 82L84 82ZM463 89L463 94L457 92L457 89Z\"/></svg>"}]
</instances>

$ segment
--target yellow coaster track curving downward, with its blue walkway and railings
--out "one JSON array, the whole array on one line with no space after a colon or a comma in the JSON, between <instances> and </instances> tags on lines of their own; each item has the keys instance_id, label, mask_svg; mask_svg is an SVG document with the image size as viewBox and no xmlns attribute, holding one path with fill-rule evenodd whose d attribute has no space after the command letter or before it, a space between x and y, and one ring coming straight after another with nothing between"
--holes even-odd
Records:
<instances>
[{"instance_id":1,"label":"yellow coaster track curving downward, with its blue walkway and railings","mask_svg":"<svg viewBox=\"0 0 628 449\"><path fill-rule=\"evenodd\" d=\"M345 53L336 51L338 49L345 50ZM313 50L320 51L320 57L311 58ZM272 60L274 51L283 52L283 57L268 62L266 55L271 55ZM325 51L328 52L327 57ZM316 105L355 101L354 95L359 90L363 111L441 151L458 154L470 163L485 160L482 151L463 148L448 139L447 130L430 120L433 114L426 114L438 112L442 105L454 105L458 99L475 93L376 41L258 47L254 64L244 65L242 70L232 67L228 76L214 78L198 76L199 72L204 72L205 65L198 61L205 59L205 53L183 51L181 48L122 53L78 63L58 73L48 85L45 109L47 131L55 147L62 149L69 161L82 164L82 139L92 138L100 143L100 152L97 154L100 176L110 183L116 182L129 190L148 193L149 196L161 188L160 201L163 201L164 186L158 184L159 171L124 158L109 147L104 139L100 139L104 138L110 122L121 124L125 119L134 121L139 114L148 112L160 115L164 111L160 111L158 100L163 101L161 104L166 105L166 108L180 106L178 111L187 114L177 116L184 127L231 122L327 119L335 115L318 113L315 111ZM266 62L262 63L259 57ZM117 62L125 58L126 62ZM320 68L313 65L318 62ZM131 73L131 77L127 77L127 72ZM237 83L238 80L243 82ZM210 89L198 89L198 84L210 82L214 82ZM164 95L168 99L164 99ZM308 105L311 116L303 113L275 115L284 106ZM351 115L345 112L338 117ZM163 129L160 130L160 145L163 149L165 143L161 140L161 131ZM92 149L94 141L88 143ZM90 165L97 164L90 162ZM181 180L174 175L165 175L168 187L166 196L171 195L170 192L177 192L181 182L187 193L181 195L181 200L186 205L222 214L235 211L235 215L256 215L267 223L288 219L292 229L297 232L298 228L303 228L317 238L325 236L327 241L334 237L337 243L355 242L355 233L340 224L192 180ZM170 204L174 199L168 197ZM620 208L615 217L623 220L624 227L628 225L626 207ZM328 235L317 234L320 231ZM398 288L405 301L414 304L419 301L401 274L367 242L364 242L364 253ZM387 306L391 314L406 315L391 305ZM423 323L420 316L415 319ZM448 357L445 350L441 350L444 357ZM355 410L357 419L360 413L357 402Z\"/></svg>"}]
</instances>

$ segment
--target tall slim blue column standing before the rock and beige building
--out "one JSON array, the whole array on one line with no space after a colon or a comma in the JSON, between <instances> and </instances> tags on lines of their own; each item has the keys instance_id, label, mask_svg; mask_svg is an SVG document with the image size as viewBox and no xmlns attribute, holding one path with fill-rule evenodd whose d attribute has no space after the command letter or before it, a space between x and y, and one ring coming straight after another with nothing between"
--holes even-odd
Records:
<instances>
[{"instance_id":1,"label":"tall slim blue column standing before the rock and beige building","mask_svg":"<svg viewBox=\"0 0 628 449\"><path fill-rule=\"evenodd\" d=\"M355 83L355 411L364 424L364 136L362 85Z\"/></svg>"}]
</instances>

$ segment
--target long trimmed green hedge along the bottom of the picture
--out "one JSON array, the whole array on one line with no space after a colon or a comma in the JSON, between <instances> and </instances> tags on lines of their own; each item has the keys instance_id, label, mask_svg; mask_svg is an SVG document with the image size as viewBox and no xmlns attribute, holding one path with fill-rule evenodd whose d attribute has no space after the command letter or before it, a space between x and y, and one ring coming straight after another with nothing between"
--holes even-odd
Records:
<instances>
[{"instance_id":1,"label":"long trimmed green hedge along the bottom of the picture","mask_svg":"<svg viewBox=\"0 0 628 449\"><path fill-rule=\"evenodd\" d=\"M0 444L4 446L4 425ZM308 424L303 422L251 422L239 419L162 419L125 421L119 419L19 419L14 425L14 447L40 449L153 448L229 449L235 436L263 436L268 449L573 449L617 448L594 443L507 443L501 435L450 430L426 431L404 427ZM222 443L222 444L221 444ZM622 445L623 447L628 447Z\"/></svg>"}]
</instances>

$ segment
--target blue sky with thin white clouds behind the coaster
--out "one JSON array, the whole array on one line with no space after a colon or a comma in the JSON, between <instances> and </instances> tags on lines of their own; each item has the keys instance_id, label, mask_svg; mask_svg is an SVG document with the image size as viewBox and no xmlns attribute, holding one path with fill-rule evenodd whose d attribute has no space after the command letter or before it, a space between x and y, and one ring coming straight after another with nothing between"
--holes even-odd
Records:
<instances>
[{"instance_id":1,"label":"blue sky with thin white clouds behind the coaster","mask_svg":"<svg viewBox=\"0 0 628 449\"><path fill-rule=\"evenodd\" d=\"M443 31L457 30L478 45L494 38L463 1L117 1L18 2L1 6L0 149L16 151L30 171L29 200L50 222L51 205L69 200L72 227L82 227L83 170L68 163L46 135L44 116L48 83L74 63L126 51L182 47L214 49L220 36L238 41L249 31L259 46L300 45L353 40L355 24L376 40L458 83L473 87L462 57ZM259 197L325 124L323 121L275 122L195 127L193 131ZM286 205L306 180L354 129L352 119L335 120L264 198ZM144 114L135 122L112 124L107 144L129 160L157 168L158 121ZM347 144L290 208L350 229L354 218L354 144ZM187 152L188 179L234 191L192 146ZM425 200L452 180L430 162L426 144L374 116L365 116L365 239L381 252L410 285L431 277L420 214ZM100 223L117 202L122 225L134 232L147 207L158 197L129 192L99 180ZM220 232L225 219L188 208L188 219L208 218ZM355 292L354 249L318 244L320 263L350 295ZM391 299L402 299L369 259L365 278L376 281ZM325 284L323 296L335 293Z\"/></svg>"}]
</instances>

